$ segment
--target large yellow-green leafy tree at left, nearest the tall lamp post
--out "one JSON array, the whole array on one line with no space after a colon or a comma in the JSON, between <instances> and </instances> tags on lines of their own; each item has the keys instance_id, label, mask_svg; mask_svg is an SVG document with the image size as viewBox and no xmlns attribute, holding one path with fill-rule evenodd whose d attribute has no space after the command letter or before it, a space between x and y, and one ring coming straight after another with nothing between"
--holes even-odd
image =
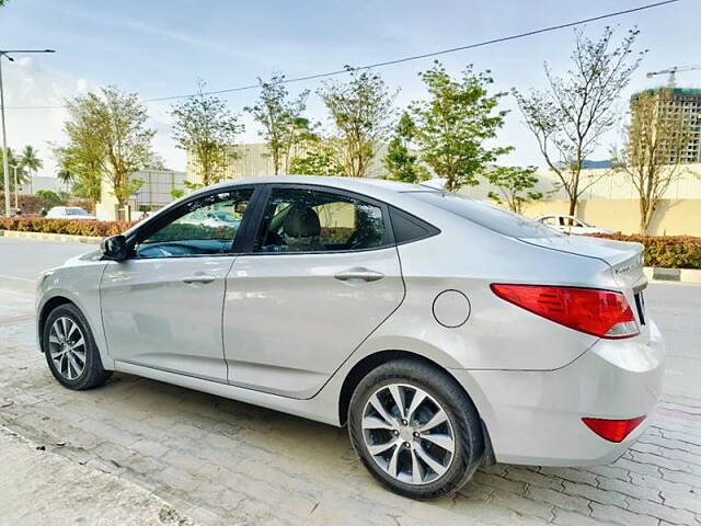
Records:
<instances>
[{"instance_id":1,"label":"large yellow-green leafy tree at left, nearest the tall lamp post","mask_svg":"<svg viewBox=\"0 0 701 526\"><path fill-rule=\"evenodd\" d=\"M142 181L131 175L151 162L154 129L147 127L148 114L136 93L124 93L115 87L101 88L100 93L77 96L67 103L69 119L64 130L69 144L64 153L70 163L100 167L123 208ZM70 159L72 157L72 159Z\"/></svg>"}]
</instances>

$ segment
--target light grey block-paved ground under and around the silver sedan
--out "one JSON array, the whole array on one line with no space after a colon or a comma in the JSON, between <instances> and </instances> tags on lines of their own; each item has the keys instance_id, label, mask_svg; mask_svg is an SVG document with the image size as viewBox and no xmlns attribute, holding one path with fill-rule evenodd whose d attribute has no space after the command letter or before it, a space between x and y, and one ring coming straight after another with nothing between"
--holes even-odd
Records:
<instances>
[{"instance_id":1,"label":"light grey block-paved ground under and around the silver sedan","mask_svg":"<svg viewBox=\"0 0 701 526\"><path fill-rule=\"evenodd\" d=\"M92 391L61 388L35 348L26 294L0 291L0 424L207 525L699 526L698 290L648 289L670 345L667 401L622 458L586 469L497 465L437 502L381 489L356 460L345 430L128 375Z\"/></svg>"}]
</instances>

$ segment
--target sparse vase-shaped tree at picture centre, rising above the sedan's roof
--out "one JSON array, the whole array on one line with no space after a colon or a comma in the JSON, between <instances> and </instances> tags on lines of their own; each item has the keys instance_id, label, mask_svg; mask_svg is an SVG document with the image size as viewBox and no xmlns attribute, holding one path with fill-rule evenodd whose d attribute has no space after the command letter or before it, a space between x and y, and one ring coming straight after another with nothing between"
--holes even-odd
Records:
<instances>
[{"instance_id":1,"label":"sparse vase-shaped tree at picture centre, rising above the sedan's roof","mask_svg":"<svg viewBox=\"0 0 701 526\"><path fill-rule=\"evenodd\" d=\"M327 82L317 93L336 132L337 140L332 142L336 163L346 176L364 178L389 132L397 92L391 93L379 75L358 72L349 66L346 70L348 82Z\"/></svg>"}]
</instances>

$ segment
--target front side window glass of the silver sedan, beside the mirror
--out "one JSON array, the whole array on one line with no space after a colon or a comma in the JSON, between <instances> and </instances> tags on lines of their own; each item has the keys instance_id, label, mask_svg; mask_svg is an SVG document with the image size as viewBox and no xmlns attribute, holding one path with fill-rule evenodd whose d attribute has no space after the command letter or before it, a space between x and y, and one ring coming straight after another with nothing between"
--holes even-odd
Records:
<instances>
[{"instance_id":1,"label":"front side window glass of the silver sedan, beside the mirror","mask_svg":"<svg viewBox=\"0 0 701 526\"><path fill-rule=\"evenodd\" d=\"M138 258L230 253L253 190L208 195L181 207L177 217L137 243Z\"/></svg>"}]
</instances>

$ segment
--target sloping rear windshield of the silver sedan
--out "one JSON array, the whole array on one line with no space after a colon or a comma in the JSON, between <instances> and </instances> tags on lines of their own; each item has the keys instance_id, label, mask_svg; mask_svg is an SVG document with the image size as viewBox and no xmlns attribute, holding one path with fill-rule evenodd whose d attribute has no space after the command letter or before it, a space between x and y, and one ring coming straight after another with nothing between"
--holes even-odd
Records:
<instances>
[{"instance_id":1,"label":"sloping rear windshield of the silver sedan","mask_svg":"<svg viewBox=\"0 0 701 526\"><path fill-rule=\"evenodd\" d=\"M425 203L512 238L553 238L563 233L489 203L445 192L412 192Z\"/></svg>"}]
</instances>

